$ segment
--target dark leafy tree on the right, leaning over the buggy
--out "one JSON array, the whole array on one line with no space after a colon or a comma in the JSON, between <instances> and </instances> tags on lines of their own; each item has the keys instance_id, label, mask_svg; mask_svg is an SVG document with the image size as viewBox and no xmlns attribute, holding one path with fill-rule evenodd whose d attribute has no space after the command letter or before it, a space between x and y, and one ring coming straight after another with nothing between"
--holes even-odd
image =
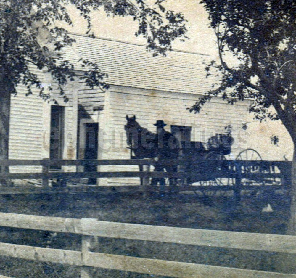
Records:
<instances>
[{"instance_id":1,"label":"dark leafy tree on the right, leaning over the buggy","mask_svg":"<svg viewBox=\"0 0 296 278\"><path fill-rule=\"evenodd\" d=\"M190 107L199 112L213 96L228 103L251 99L260 121L281 120L292 138L292 202L289 234L296 234L296 1L202 0L215 30L219 61L206 67L221 74L218 87ZM229 62L230 55L237 64Z\"/></svg>"}]
</instances>

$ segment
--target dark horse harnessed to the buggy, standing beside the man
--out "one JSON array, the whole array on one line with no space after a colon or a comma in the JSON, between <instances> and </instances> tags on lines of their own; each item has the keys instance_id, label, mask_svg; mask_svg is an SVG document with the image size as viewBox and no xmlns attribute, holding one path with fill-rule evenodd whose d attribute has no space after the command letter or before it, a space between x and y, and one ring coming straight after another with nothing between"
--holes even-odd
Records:
<instances>
[{"instance_id":1,"label":"dark horse harnessed to the buggy, standing beside the man","mask_svg":"<svg viewBox=\"0 0 296 278\"><path fill-rule=\"evenodd\" d=\"M157 142L157 134L149 131L146 128L141 127L141 125L136 121L136 116L133 115L132 117L128 117L126 115L127 123L124 126L126 131L126 143L128 144L128 148L131 149L131 151L134 153L134 157L136 159L143 159L143 158L156 158L160 154L161 150L158 148L158 142ZM167 132L169 136L171 137L171 142L175 140L177 143L178 140L176 136L171 134L170 132ZM179 147L171 148L169 146L169 142L163 142L163 150L169 150L168 151L162 151L168 153L167 157L171 158L172 156L175 158L179 155ZM139 165L140 171L143 171L143 165ZM174 171L174 170L173 170ZM140 179L140 182L142 184L143 179Z\"/></svg>"}]
</instances>

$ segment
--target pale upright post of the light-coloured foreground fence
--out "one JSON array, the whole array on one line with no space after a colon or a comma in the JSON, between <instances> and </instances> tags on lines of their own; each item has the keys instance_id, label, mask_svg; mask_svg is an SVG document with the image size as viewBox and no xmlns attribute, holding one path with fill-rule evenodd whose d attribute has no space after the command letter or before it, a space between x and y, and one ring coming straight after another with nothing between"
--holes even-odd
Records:
<instances>
[{"instance_id":1,"label":"pale upright post of the light-coloured foreground fence","mask_svg":"<svg viewBox=\"0 0 296 278\"><path fill-rule=\"evenodd\" d=\"M82 218L81 219L81 227L82 231L87 229L87 227L91 227L92 221L95 219L91 218ZM82 234L82 244L81 244L81 252L82 252L82 264L87 260L88 253L92 248L98 246L98 237L96 236L87 236ZM94 278L94 267L92 266L82 266L81 267L81 278Z\"/></svg>"}]
</instances>

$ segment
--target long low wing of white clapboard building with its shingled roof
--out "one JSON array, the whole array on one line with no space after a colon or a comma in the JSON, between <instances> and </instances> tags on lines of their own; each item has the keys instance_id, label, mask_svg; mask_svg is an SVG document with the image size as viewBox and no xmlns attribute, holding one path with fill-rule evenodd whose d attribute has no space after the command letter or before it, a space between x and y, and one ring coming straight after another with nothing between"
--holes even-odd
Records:
<instances>
[{"instance_id":1,"label":"long low wing of white clapboard building with its shingled roof","mask_svg":"<svg viewBox=\"0 0 296 278\"><path fill-rule=\"evenodd\" d=\"M177 126L187 133L191 141L201 142L206 142L216 133L225 132L224 128L231 125L235 141L229 159L236 158L247 148L256 149L265 160L282 160L284 154L291 158L292 145L281 123L260 124L254 121L247 112L247 101L229 105L215 97L201 113L186 110L216 82L213 78L206 78L208 56L172 51L166 57L152 57L142 45L78 35L73 37L77 55L99 64L101 70L108 73L106 81L110 84L106 92L84 86L79 89L78 158L88 158L85 146L89 145L88 131L93 126L98 130L98 153L91 153L91 158L130 158L124 130L126 115L136 115L138 123L152 132L156 131L153 124L163 120L167 131L173 132ZM246 131L242 130L243 123L248 125ZM286 135L284 140L283 134ZM272 135L282 138L280 147L271 144ZM100 171L107 169L130 171L131 166L99 167ZM120 185L123 181L101 179L99 184Z\"/></svg>"}]
</instances>

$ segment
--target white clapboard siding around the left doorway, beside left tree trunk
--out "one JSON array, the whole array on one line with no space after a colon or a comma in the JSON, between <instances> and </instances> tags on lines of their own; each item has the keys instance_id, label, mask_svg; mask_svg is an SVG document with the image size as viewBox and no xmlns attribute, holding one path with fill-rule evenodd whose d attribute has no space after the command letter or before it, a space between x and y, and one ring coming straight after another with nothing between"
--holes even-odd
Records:
<instances>
[{"instance_id":1,"label":"white clapboard siding around the left doorway, beside left tree trunk","mask_svg":"<svg viewBox=\"0 0 296 278\"><path fill-rule=\"evenodd\" d=\"M47 87L52 86L51 97L56 99L58 105L65 106L65 159L76 157L77 137L77 89L75 82L64 86L69 98L68 102L59 93L57 83L53 82L49 73L37 70L34 66L31 71L38 75L41 83ZM77 85L76 85L77 87ZM33 94L26 96L24 85L17 86L17 95L11 98L10 132L9 132L9 159L41 159L49 153L50 107L53 102L47 103L39 97L39 90L32 88ZM71 134L72 142L67 137ZM47 137L46 137L47 136ZM68 147L73 146L69 151ZM40 166L11 166L14 172L40 172Z\"/></svg>"}]
</instances>

